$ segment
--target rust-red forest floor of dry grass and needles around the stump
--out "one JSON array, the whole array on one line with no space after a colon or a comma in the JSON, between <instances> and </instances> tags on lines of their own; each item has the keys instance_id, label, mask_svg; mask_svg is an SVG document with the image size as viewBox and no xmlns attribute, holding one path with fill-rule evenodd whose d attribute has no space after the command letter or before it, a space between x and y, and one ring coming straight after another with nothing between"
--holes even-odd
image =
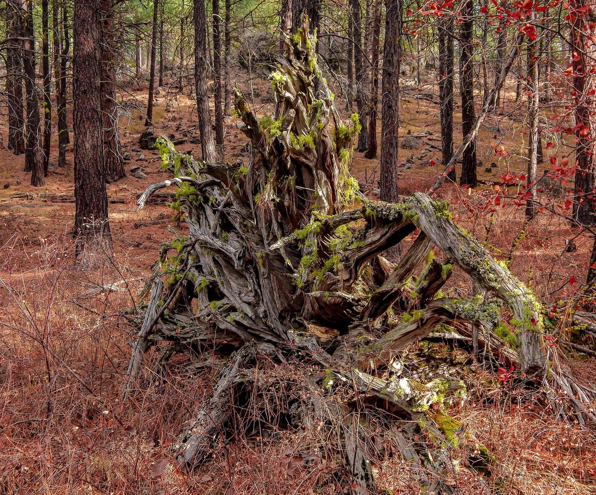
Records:
<instances>
[{"instance_id":1,"label":"rust-red forest floor of dry grass and needles around the stump","mask_svg":"<svg viewBox=\"0 0 596 495\"><path fill-rule=\"evenodd\" d=\"M264 80L254 82L257 113L272 107L267 88ZM140 107L146 98L142 90L128 97ZM417 149L401 150L402 162L410 167L401 171L399 188L401 194L408 194L426 190L439 173L430 164L431 160L440 163L436 95L408 92L402 109L401 133L421 141ZM252 437L226 443L194 477L179 472L160 475L154 468L156 461L169 455L167 446L211 386L204 375L185 368L184 362L173 360L159 371L152 367L157 356L150 353L144 391L122 403L129 357L126 343L135 330L122 310L138 304L136 294L157 259L160 244L171 237L167 227L172 223L167 206L150 204L140 213L135 211L138 195L150 183L167 178L156 150L136 151L143 123L139 115L133 109L122 117L122 144L131 158L127 173L138 165L147 178L129 175L108 185L108 195L120 201L110 204L114 253L96 269L82 270L73 263L74 203L36 196L72 193L72 147L67 168L51 167L46 185L35 190L22 171L24 157L0 150L0 186L8 184L0 188L0 491L313 493L311 487L321 473L293 463L288 453L300 439L288 432L268 440ZM182 138L185 133L189 141L198 137L195 104L187 95L162 90L155 116L156 135ZM458 117L456 113L456 122ZM228 118L226 157L246 159L244 144L235 119ZM498 160L495 146L501 144L511 155ZM516 122L513 111L490 119L479 138L480 178L501 182L499 174L523 172L522 145L522 124ZM200 153L200 147L190 143L177 149ZM53 154L50 161L57 161ZM378 160L356 153L352 172L374 197ZM505 189L502 196L515 192ZM485 241L494 256L507 258L524 229L523 207L505 197L495 201L491 184L476 191L444 185L437 195L449 200L454 219ZM561 201L548 195L541 199L550 206ZM554 208L560 212L558 206ZM156 220L159 223L135 225ZM172 226L184 230L184 224ZM548 208L525 231L513 253L512 271L547 304L565 308L585 280L592 236ZM566 239L573 239L577 250L567 253ZM453 280L452 290L471 290L457 273ZM126 282L105 287L119 281ZM595 359L572 358L570 365L579 375L596 373ZM596 435L555 422L531 394L508 390L507 384L494 378L488 372L477 378L476 386L485 388L483 394L468 385L468 400L449 413L499 459L493 476L501 480L503 492L595 493ZM380 485L393 493L418 493L420 487L406 463L393 460L375 469ZM465 468L455 466L454 472L455 493L483 493L469 481ZM327 485L317 493L335 492L333 485Z\"/></svg>"}]
</instances>

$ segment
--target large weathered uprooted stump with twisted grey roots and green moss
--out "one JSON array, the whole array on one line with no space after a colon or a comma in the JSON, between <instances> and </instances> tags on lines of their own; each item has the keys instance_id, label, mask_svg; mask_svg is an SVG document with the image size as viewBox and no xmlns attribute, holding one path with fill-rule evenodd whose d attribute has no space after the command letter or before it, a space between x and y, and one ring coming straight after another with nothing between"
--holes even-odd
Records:
<instances>
[{"instance_id":1,"label":"large weathered uprooted stump with twisted grey roots and green moss","mask_svg":"<svg viewBox=\"0 0 596 495\"><path fill-rule=\"evenodd\" d=\"M358 192L348 170L358 119L344 123L334 108L306 23L287 38L287 57L271 74L280 119L257 118L235 94L252 145L247 165L201 163L167 139L157 142L174 178L148 188L139 209L153 192L177 185L172 206L188 235L164 245L154 266L125 394L149 345L185 350L193 362L218 368L219 378L175 446L182 468L200 465L219 432L231 428L235 407L250 403L262 412L254 421L333 424L340 478L358 493L374 490L368 459L383 455L367 437L367 418L384 428L387 418L407 421L393 438L427 487L440 484L444 451L462 433L454 422L445 425L443 412L446 397L462 391L457 366L427 366L423 345L403 359L415 341L446 332L474 340L491 350L486 356L544 384L556 415L593 420L586 407L593 391L545 345L541 304L452 222L447 204L422 193L389 204ZM383 257L401 242L409 249L397 263ZM443 260L433 256L435 247ZM454 266L490 297L443 297ZM502 301L513 315L509 325ZM291 378L271 372L288 363ZM276 390L286 399L276 399ZM430 444L413 440L425 433L442 439L432 455L424 453Z\"/></svg>"}]
</instances>

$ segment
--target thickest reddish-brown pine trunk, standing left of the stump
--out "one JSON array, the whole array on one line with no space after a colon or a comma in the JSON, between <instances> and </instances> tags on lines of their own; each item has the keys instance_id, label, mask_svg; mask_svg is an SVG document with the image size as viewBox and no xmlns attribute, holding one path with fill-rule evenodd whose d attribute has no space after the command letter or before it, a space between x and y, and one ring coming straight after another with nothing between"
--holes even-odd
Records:
<instances>
[{"instance_id":1,"label":"thickest reddish-brown pine trunk, standing left of the stump","mask_svg":"<svg viewBox=\"0 0 596 495\"><path fill-rule=\"evenodd\" d=\"M111 249L101 113L101 0L75 3L73 130L76 256Z\"/></svg>"}]
</instances>

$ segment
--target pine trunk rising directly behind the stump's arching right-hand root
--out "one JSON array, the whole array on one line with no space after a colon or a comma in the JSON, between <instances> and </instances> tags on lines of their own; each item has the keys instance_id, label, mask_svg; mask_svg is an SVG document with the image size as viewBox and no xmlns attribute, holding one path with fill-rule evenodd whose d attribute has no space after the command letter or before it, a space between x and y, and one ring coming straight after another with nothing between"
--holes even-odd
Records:
<instances>
[{"instance_id":1,"label":"pine trunk rising directly behind the stump's arching right-hand root","mask_svg":"<svg viewBox=\"0 0 596 495\"><path fill-rule=\"evenodd\" d=\"M381 201L398 198L399 59L402 2L386 0L383 81L381 83Z\"/></svg>"}]
</instances>

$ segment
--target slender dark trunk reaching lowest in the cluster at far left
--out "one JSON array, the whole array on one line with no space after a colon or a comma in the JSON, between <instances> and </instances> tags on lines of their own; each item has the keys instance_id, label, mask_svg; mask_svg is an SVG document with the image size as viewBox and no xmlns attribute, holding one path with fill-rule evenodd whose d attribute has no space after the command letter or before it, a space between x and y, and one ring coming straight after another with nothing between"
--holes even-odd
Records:
<instances>
[{"instance_id":1,"label":"slender dark trunk reaching lowest in the cluster at far left","mask_svg":"<svg viewBox=\"0 0 596 495\"><path fill-rule=\"evenodd\" d=\"M31 172L31 185L39 187L44 185L44 150L40 145L41 120L39 119L39 100L35 80L35 33L33 32L32 0L28 0L26 8L21 10L24 14L23 66L27 95L25 171Z\"/></svg>"}]
</instances>

